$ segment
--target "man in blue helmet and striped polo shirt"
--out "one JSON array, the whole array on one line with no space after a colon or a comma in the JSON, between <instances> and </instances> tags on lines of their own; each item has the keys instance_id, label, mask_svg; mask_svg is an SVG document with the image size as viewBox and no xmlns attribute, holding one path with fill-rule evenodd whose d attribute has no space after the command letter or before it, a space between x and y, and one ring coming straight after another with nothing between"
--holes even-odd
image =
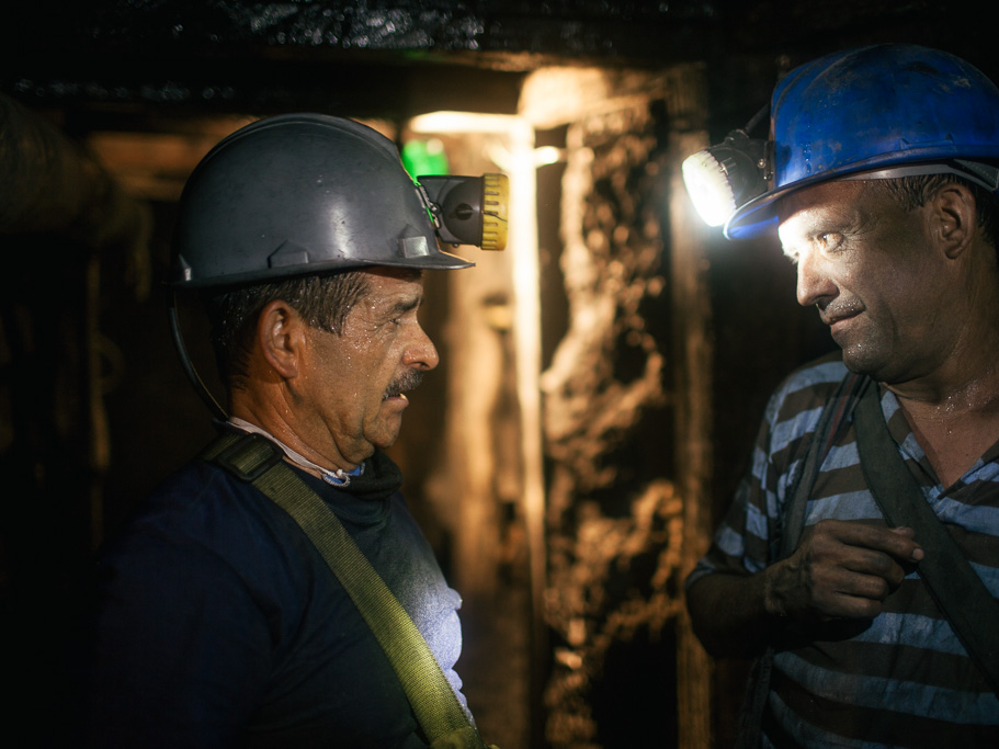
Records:
<instances>
[{"instance_id":1,"label":"man in blue helmet and striped polo shirt","mask_svg":"<svg viewBox=\"0 0 999 749\"><path fill-rule=\"evenodd\" d=\"M747 143L695 158L733 185L725 234L775 228L842 351L777 388L688 579L705 647L757 658L740 740L999 746L999 90L923 47L838 53Z\"/></svg>"}]
</instances>

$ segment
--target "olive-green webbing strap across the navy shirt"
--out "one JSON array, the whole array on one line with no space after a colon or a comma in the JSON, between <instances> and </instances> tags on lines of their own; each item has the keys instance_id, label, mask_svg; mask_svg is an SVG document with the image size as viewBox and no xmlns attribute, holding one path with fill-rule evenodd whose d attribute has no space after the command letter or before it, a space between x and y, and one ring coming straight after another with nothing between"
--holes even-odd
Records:
<instances>
[{"instance_id":1,"label":"olive-green webbing strap across the navy shirt","mask_svg":"<svg viewBox=\"0 0 999 749\"><path fill-rule=\"evenodd\" d=\"M475 741L467 746L485 749L412 619L336 513L284 463L281 450L259 434L225 433L202 457L250 481L302 526L388 656L430 744L467 731Z\"/></svg>"}]
</instances>

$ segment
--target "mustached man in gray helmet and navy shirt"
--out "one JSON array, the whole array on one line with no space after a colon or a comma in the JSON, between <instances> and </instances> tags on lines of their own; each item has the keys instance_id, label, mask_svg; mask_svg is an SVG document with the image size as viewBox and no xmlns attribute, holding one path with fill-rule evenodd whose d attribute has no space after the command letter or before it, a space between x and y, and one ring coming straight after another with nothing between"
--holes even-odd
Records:
<instances>
[{"instance_id":1,"label":"mustached man in gray helmet and navy shirt","mask_svg":"<svg viewBox=\"0 0 999 749\"><path fill-rule=\"evenodd\" d=\"M310 114L238 130L192 174L175 285L204 295L227 405L99 561L75 745L484 746L461 599L382 452L438 364L422 272L472 265L439 249L433 193L376 132Z\"/></svg>"}]
</instances>

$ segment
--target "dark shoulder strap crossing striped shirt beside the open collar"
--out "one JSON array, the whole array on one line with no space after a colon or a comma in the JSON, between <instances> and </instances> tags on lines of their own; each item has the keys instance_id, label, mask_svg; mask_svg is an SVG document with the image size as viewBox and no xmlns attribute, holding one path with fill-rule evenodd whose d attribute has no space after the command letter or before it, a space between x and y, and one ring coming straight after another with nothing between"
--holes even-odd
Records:
<instances>
[{"instance_id":1,"label":"dark shoulder strap crossing striped shirt beside the open collar","mask_svg":"<svg viewBox=\"0 0 999 749\"><path fill-rule=\"evenodd\" d=\"M895 527L916 531L926 551L918 571L972 660L999 694L999 602L968 564L898 454L874 383L856 407L856 444L874 500Z\"/></svg>"}]
</instances>

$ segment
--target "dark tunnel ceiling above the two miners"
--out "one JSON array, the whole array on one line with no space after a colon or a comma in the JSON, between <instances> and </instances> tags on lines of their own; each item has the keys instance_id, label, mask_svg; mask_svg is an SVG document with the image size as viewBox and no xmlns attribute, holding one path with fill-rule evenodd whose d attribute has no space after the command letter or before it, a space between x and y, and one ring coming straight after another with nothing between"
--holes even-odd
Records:
<instances>
[{"instance_id":1,"label":"dark tunnel ceiling above the two miners","mask_svg":"<svg viewBox=\"0 0 999 749\"><path fill-rule=\"evenodd\" d=\"M952 2L34 0L4 15L0 90L43 107L507 113L543 64L725 68L873 41L996 72L986 24Z\"/></svg>"}]
</instances>

